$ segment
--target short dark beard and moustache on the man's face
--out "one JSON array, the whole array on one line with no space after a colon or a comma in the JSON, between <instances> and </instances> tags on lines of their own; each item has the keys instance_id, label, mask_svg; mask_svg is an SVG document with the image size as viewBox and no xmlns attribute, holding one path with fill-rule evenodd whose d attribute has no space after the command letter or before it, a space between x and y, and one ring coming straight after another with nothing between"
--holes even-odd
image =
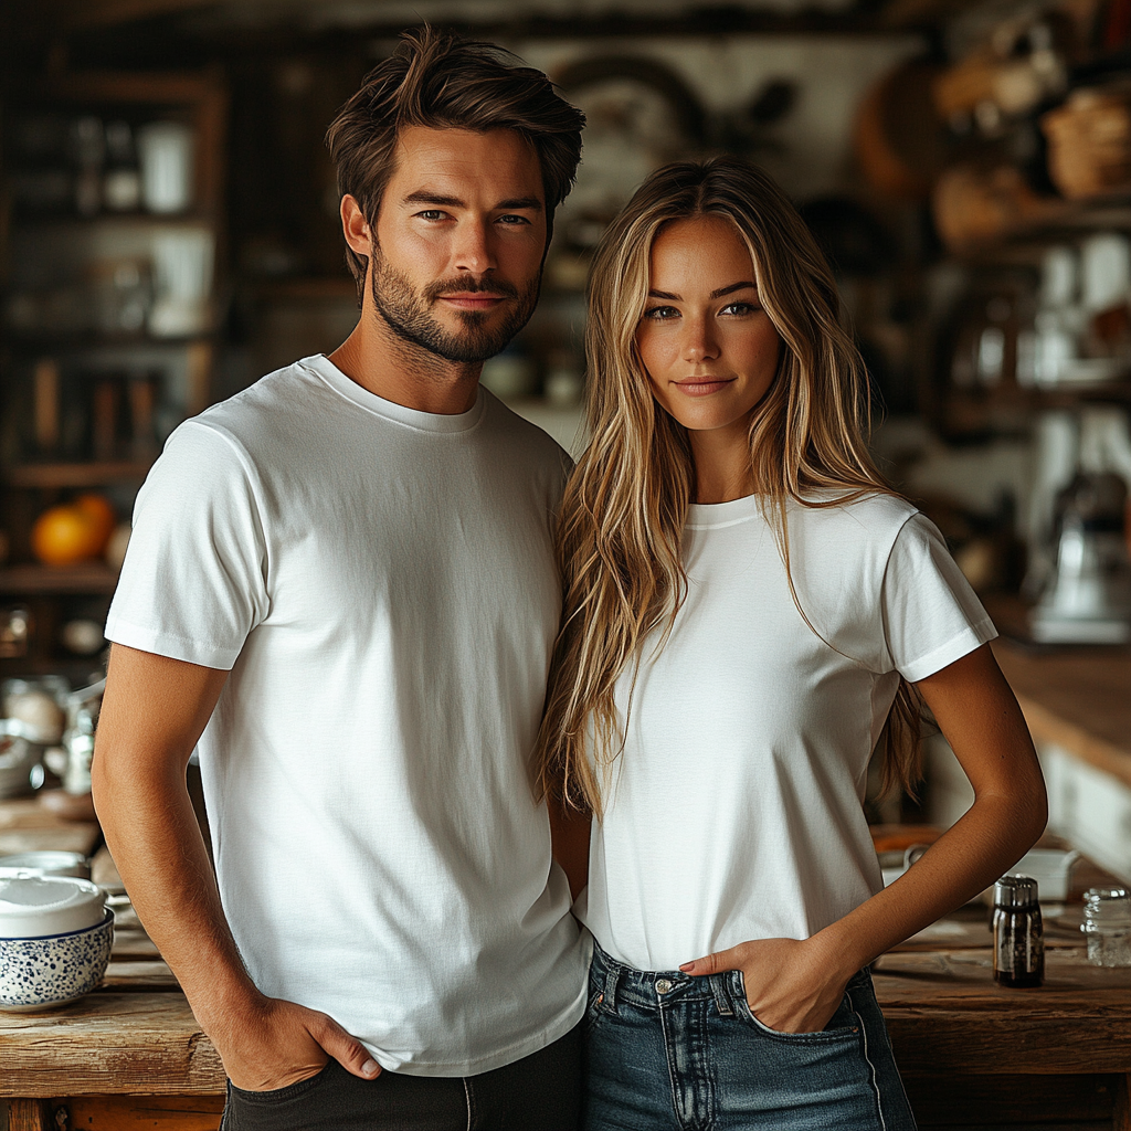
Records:
<instances>
[{"instance_id":1,"label":"short dark beard and moustache on the man's face","mask_svg":"<svg viewBox=\"0 0 1131 1131\"><path fill-rule=\"evenodd\" d=\"M470 278L457 278L433 283L417 292L374 249L370 291L377 312L397 337L443 357L444 361L478 364L506 348L510 339L529 321L538 302L539 282L541 274L519 293L518 287L506 279L477 283ZM463 322L463 330L452 334L432 314L432 304L441 295L483 291L518 300L511 305L510 313L494 327L486 325L492 312L460 310L457 313Z\"/></svg>"}]
</instances>

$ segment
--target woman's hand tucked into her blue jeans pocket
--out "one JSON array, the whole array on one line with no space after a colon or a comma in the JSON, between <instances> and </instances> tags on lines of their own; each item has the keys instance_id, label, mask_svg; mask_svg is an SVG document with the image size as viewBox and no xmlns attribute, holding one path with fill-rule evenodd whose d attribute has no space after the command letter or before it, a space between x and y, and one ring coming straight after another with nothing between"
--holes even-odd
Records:
<instances>
[{"instance_id":1,"label":"woman's hand tucked into her blue jeans pocket","mask_svg":"<svg viewBox=\"0 0 1131 1131\"><path fill-rule=\"evenodd\" d=\"M741 970L750 1011L777 1033L820 1033L844 999L843 973L818 939L760 939L680 967L684 974Z\"/></svg>"}]
</instances>

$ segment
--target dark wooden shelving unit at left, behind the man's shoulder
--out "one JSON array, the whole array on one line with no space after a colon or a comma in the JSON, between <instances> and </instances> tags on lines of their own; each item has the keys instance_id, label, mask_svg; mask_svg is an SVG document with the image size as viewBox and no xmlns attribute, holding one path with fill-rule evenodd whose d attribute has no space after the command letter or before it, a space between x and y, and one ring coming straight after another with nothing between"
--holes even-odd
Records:
<instances>
[{"instance_id":1,"label":"dark wooden shelving unit at left, behind the man's shoulder","mask_svg":"<svg viewBox=\"0 0 1131 1131\"><path fill-rule=\"evenodd\" d=\"M127 519L161 441L211 400L216 280L226 258L226 120L218 72L62 74L40 89L14 95L3 107L0 527L9 552L0 568L0 604L28 608L35 629L28 654L0 661L0 675L62 670L68 663L88 667L89 659L67 656L59 630L70 615L97 618L116 585L116 573L102 561L38 564L29 545L35 518L75 493L100 491ZM111 169L102 163L103 154L114 156L106 123L124 123L119 135L136 152L138 129L164 121L190 131L185 207L146 210L153 200L133 156L137 206L111 208L106 176L94 180L94 204L80 213L80 176L103 178ZM93 166L89 155L86 164L79 158L75 139L83 130L94 138ZM41 152L29 138L48 141ZM116 159L122 163L120 153ZM53 209L37 207L42 202L27 182L44 173L60 183L70 179L70 200L60 198ZM162 241L167 249L179 240L191 244L180 260L162 252ZM191 254L197 258L189 262ZM192 269L200 280L197 317L183 325L158 323L156 307L170 295L183 297L178 273L183 278ZM112 300L133 302L132 314L124 317L124 307L100 305Z\"/></svg>"}]
</instances>

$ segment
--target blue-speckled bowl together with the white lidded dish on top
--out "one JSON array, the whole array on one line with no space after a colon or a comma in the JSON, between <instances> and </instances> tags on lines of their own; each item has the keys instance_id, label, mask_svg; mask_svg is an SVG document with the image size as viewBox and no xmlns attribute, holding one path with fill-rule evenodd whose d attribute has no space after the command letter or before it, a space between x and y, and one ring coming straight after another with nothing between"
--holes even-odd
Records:
<instances>
[{"instance_id":1,"label":"blue-speckled bowl together with the white lidded dish on top","mask_svg":"<svg viewBox=\"0 0 1131 1131\"><path fill-rule=\"evenodd\" d=\"M0 1010L31 1012L75 1001L102 981L114 916L89 880L9 871L0 875Z\"/></svg>"}]
</instances>

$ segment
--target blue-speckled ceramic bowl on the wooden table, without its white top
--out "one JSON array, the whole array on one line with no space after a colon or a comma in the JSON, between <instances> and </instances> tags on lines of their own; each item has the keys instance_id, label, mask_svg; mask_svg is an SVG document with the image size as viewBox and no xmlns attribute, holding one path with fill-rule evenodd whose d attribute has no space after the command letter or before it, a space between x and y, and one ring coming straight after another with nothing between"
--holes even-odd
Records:
<instances>
[{"instance_id":1,"label":"blue-speckled ceramic bowl on the wooden table, without its white top","mask_svg":"<svg viewBox=\"0 0 1131 1131\"><path fill-rule=\"evenodd\" d=\"M66 1005L102 981L114 942L114 913L95 926L40 939L0 939L0 1010Z\"/></svg>"}]
</instances>

